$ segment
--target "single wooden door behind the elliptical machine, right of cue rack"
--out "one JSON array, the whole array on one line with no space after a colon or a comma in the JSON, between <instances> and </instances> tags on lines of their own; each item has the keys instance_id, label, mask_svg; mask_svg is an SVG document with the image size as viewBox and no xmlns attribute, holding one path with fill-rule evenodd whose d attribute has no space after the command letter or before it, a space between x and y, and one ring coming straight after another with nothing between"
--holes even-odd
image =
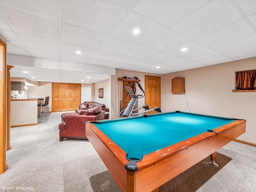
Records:
<instances>
[{"instance_id":1,"label":"single wooden door behind the elliptical machine, right of cue rack","mask_svg":"<svg viewBox=\"0 0 256 192\"><path fill-rule=\"evenodd\" d=\"M161 77L145 75L145 103L150 109L161 108ZM155 111L151 113L156 113Z\"/></svg>"}]
</instances>

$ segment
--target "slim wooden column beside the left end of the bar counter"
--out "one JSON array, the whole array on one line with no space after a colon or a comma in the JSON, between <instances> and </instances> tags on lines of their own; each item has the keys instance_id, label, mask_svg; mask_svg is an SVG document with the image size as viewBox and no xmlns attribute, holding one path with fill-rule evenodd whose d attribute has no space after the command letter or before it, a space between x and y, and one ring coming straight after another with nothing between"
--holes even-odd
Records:
<instances>
[{"instance_id":1,"label":"slim wooden column beside the left end of the bar counter","mask_svg":"<svg viewBox=\"0 0 256 192\"><path fill-rule=\"evenodd\" d=\"M11 122L10 122L10 116L11 116L11 76L10 76L10 70L14 66L7 65L7 112L6 112L6 149L10 150L11 149L11 144L10 144L10 127L11 127Z\"/></svg>"}]
</instances>

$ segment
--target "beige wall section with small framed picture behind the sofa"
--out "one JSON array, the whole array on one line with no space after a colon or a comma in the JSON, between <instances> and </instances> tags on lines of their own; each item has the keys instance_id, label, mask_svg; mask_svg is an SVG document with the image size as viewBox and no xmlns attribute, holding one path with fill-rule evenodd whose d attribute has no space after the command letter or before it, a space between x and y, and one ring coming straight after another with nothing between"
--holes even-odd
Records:
<instances>
[{"instance_id":1,"label":"beige wall section with small framed picture behind the sofa","mask_svg":"<svg viewBox=\"0 0 256 192\"><path fill-rule=\"evenodd\" d=\"M98 83L95 83L95 89L94 89L94 101L98 103L105 104L109 110L111 110L110 105L110 96L111 96L111 80L107 79ZM99 98L99 88L103 88L103 98Z\"/></svg>"}]
</instances>

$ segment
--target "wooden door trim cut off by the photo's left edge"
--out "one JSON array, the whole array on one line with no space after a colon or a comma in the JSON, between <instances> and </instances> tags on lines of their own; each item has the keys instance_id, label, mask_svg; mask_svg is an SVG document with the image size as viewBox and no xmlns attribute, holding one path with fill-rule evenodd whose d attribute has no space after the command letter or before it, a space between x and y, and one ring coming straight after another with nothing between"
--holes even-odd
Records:
<instances>
[{"instance_id":1,"label":"wooden door trim cut off by the photo's left edge","mask_svg":"<svg viewBox=\"0 0 256 192\"><path fill-rule=\"evenodd\" d=\"M0 174L6 165L6 43L0 39Z\"/></svg>"}]
</instances>

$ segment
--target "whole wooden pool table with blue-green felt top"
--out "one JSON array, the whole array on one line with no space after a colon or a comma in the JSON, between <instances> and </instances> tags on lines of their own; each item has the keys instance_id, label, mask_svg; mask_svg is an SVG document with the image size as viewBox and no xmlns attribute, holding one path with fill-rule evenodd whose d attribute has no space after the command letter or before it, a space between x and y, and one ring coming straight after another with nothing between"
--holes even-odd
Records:
<instances>
[{"instance_id":1,"label":"whole wooden pool table with blue-green felt top","mask_svg":"<svg viewBox=\"0 0 256 192\"><path fill-rule=\"evenodd\" d=\"M188 112L86 122L86 136L124 192L159 186L245 132L245 120ZM93 165L92 165L93 166Z\"/></svg>"}]
</instances>

